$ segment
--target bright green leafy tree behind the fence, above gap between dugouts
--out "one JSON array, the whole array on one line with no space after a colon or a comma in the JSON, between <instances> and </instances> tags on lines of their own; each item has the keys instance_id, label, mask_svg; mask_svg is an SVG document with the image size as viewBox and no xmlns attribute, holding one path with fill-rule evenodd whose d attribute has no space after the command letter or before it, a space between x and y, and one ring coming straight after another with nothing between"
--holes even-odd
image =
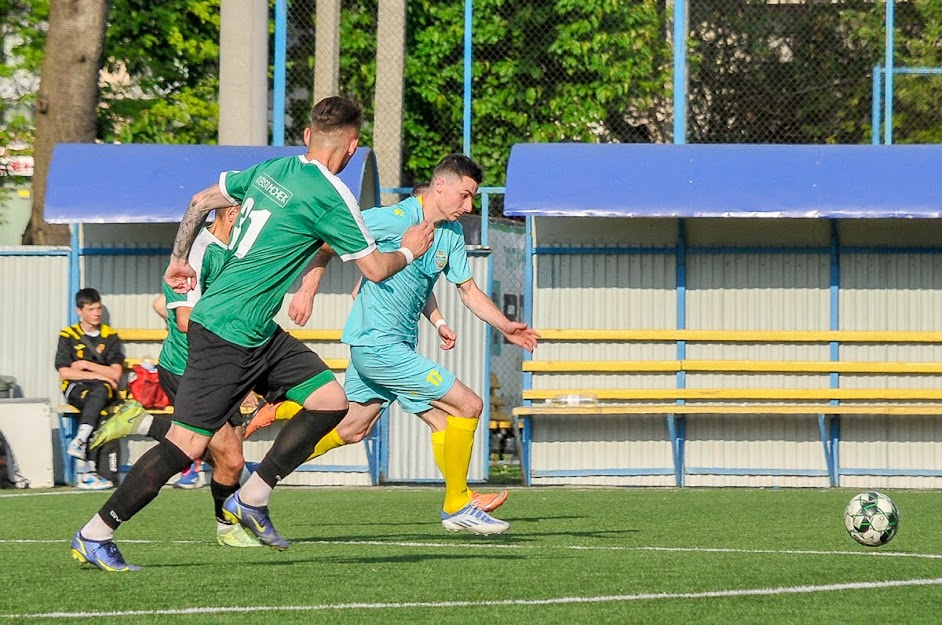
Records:
<instances>
[{"instance_id":1,"label":"bright green leafy tree behind the fence, above gap between dugouts","mask_svg":"<svg viewBox=\"0 0 942 625\"><path fill-rule=\"evenodd\" d=\"M341 92L372 119L376 0L345 2ZM288 141L310 110L313 3L289 9ZM503 184L520 141L638 141L663 137L669 98L669 15L658 0L475 0L472 156ZM405 184L462 150L463 3L412 0L407 16ZM382 42L379 42L382 45ZM664 119L663 115L660 119ZM367 125L361 142L369 145Z\"/></svg>"}]
</instances>

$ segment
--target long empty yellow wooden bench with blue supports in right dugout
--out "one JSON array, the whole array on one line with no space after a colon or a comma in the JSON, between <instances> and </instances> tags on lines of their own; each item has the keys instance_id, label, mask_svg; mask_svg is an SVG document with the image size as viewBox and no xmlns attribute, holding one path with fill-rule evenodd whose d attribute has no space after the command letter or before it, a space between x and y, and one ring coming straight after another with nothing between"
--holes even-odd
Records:
<instances>
[{"instance_id":1,"label":"long empty yellow wooden bench with blue supports in right dugout","mask_svg":"<svg viewBox=\"0 0 942 625\"><path fill-rule=\"evenodd\" d=\"M711 346L823 346L831 359L634 359L634 360L527 360L523 364L527 405L513 413L523 421L523 471L530 483L532 419L573 416L666 415L678 486L684 484L685 417L688 415L817 415L824 449L826 475L832 486L840 482L838 445L841 415L938 416L942 415L942 388L925 384L942 374L938 361L845 360L836 355L847 346L942 346L942 332L853 332L853 331L703 331L703 330L541 330L544 343L577 344L669 344L678 355L692 346L710 352ZM942 349L942 348L940 348ZM545 350L544 350L545 351ZM663 350L661 350L663 352ZM734 350L735 351L735 350ZM748 348L745 349L748 351ZM942 352L940 352L942 353ZM942 357L939 358L942 360ZM691 384L694 376L709 376L711 386ZM812 376L800 384L785 381L793 376ZM579 386L554 382L554 378L578 376ZM670 387L651 388L651 378ZM740 376L777 376L779 385L751 387ZM918 384L895 384L905 376ZM617 383L612 384L615 378ZM638 382L644 377L643 382ZM866 380L860 388L846 388L842 380ZM716 384L719 380L721 384ZM536 388L534 388L536 387ZM575 405L567 405L567 404ZM756 474L754 470L749 474ZM866 474L848 470L848 474ZM564 471L547 472L563 476ZM629 475L630 470L623 475ZM654 474L648 472L647 474ZM746 473L741 473L746 474ZM761 474L761 473L758 473ZM929 469L925 475L942 475Z\"/></svg>"}]
</instances>

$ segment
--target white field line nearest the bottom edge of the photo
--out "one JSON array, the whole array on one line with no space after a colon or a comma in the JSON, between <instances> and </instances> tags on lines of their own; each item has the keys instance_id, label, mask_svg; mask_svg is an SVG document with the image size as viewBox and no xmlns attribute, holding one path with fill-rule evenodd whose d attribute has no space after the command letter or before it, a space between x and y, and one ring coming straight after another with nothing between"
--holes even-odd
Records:
<instances>
[{"instance_id":1,"label":"white field line nearest the bottom edge of the photo","mask_svg":"<svg viewBox=\"0 0 942 625\"><path fill-rule=\"evenodd\" d=\"M392 610L408 608L476 608L496 606L563 605L578 603L616 603L627 601L653 601L659 599L714 599L721 597L755 597L773 595L800 595L842 590L879 590L904 586L940 586L942 577L931 579L900 579L883 582L849 582L820 586L784 586L779 588L746 588L738 590L708 590L703 592L642 593L635 595L601 595L595 597L550 597L547 599L497 599L492 601L429 601L402 603L328 603L321 605L290 606L221 606L179 608L170 610L124 610L115 612L42 612L0 614L2 619L73 619L100 617L178 616L194 614L231 614L253 612L318 612L324 610Z\"/></svg>"}]
</instances>

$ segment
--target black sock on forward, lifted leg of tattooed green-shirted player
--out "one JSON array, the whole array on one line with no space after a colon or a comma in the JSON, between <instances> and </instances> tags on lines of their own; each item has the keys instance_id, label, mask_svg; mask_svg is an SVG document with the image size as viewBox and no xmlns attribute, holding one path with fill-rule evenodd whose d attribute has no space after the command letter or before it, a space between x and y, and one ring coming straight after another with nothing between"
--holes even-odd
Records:
<instances>
[{"instance_id":1,"label":"black sock on forward, lifted leg of tattooed green-shirted player","mask_svg":"<svg viewBox=\"0 0 942 625\"><path fill-rule=\"evenodd\" d=\"M301 466L314 451L314 445L337 427L346 410L302 410L281 430L255 472L275 487L282 478Z\"/></svg>"}]
</instances>

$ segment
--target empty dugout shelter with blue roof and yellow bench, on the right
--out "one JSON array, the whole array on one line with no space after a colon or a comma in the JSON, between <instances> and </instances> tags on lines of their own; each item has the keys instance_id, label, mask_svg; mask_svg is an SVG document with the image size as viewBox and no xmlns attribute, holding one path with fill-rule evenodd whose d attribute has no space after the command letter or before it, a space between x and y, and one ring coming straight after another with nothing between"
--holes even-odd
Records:
<instances>
[{"instance_id":1,"label":"empty dugout shelter with blue roof and yellow bench, on the right","mask_svg":"<svg viewBox=\"0 0 942 625\"><path fill-rule=\"evenodd\" d=\"M531 484L942 486L942 146L521 144Z\"/></svg>"}]
</instances>

